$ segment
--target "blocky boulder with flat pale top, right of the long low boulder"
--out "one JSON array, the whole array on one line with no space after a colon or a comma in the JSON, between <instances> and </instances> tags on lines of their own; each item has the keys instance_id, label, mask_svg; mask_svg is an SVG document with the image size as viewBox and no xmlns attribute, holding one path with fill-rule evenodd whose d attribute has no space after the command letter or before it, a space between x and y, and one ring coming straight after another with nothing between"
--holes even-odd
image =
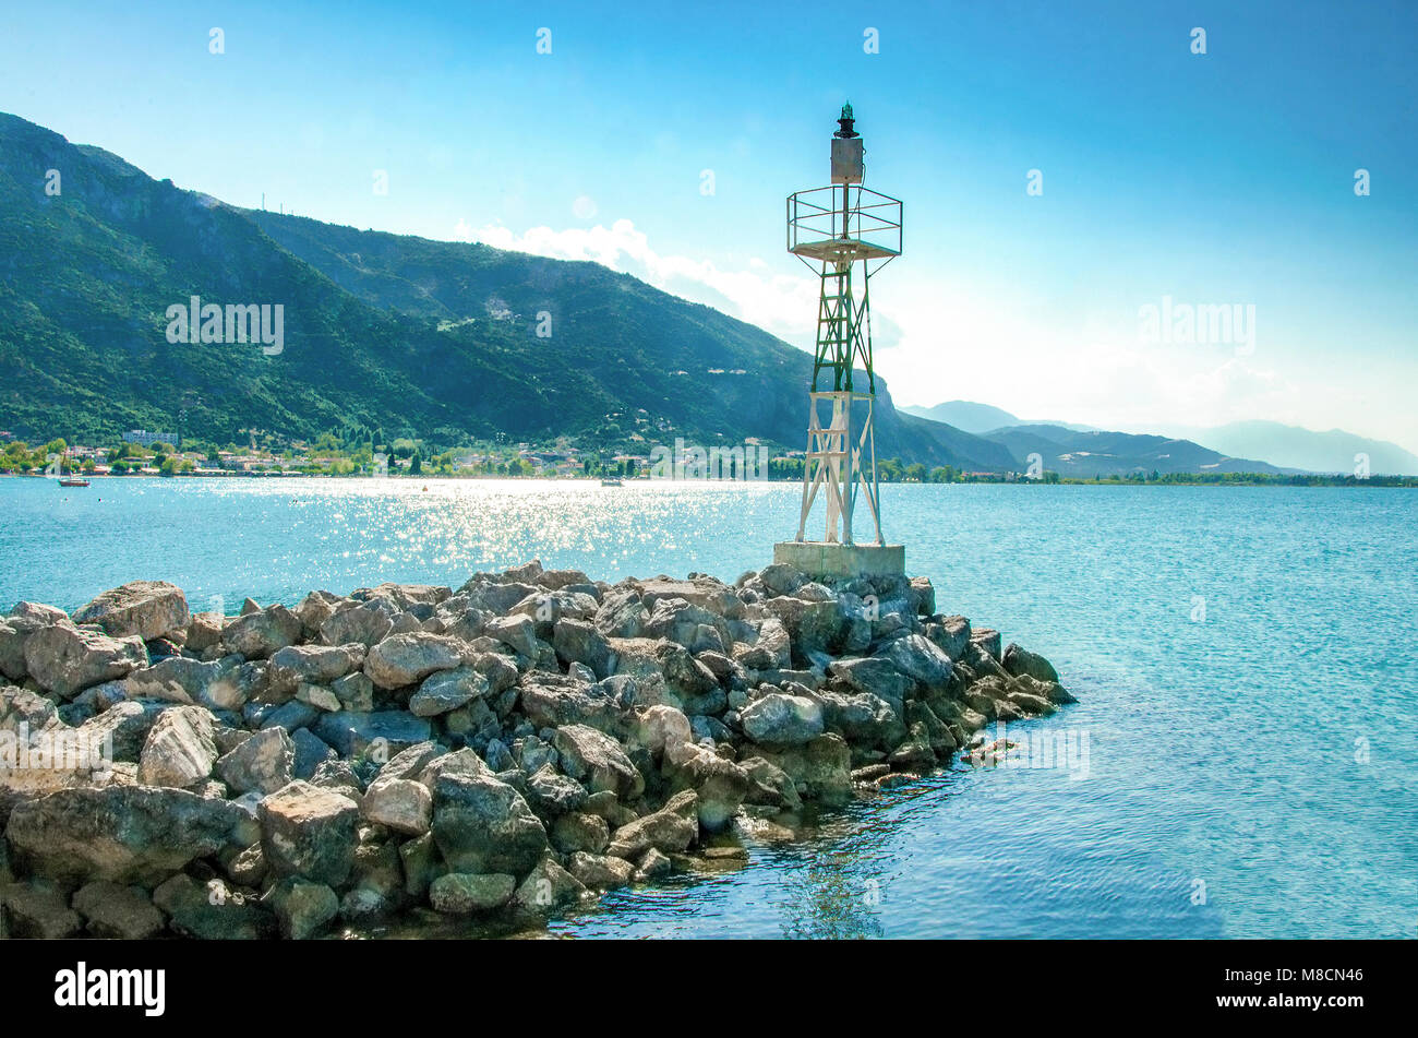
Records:
<instances>
[{"instance_id":1,"label":"blocky boulder with flat pale top, right of the long low boulder","mask_svg":"<svg viewBox=\"0 0 1418 1038\"><path fill-rule=\"evenodd\" d=\"M278 876L340 886L354 864L359 805L333 790L295 780L257 805L261 852Z\"/></svg>"}]
</instances>

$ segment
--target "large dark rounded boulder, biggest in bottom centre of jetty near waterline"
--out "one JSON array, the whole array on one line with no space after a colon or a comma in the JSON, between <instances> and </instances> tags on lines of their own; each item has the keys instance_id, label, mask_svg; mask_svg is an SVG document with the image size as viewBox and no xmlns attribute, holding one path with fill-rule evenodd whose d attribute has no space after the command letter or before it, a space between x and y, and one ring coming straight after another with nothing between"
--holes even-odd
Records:
<instances>
[{"instance_id":1,"label":"large dark rounded boulder, biggest in bottom centre of jetty near waterline","mask_svg":"<svg viewBox=\"0 0 1418 1038\"><path fill-rule=\"evenodd\" d=\"M432 834L454 872L523 876L547 848L546 830L520 793L469 774L434 781Z\"/></svg>"}]
</instances>

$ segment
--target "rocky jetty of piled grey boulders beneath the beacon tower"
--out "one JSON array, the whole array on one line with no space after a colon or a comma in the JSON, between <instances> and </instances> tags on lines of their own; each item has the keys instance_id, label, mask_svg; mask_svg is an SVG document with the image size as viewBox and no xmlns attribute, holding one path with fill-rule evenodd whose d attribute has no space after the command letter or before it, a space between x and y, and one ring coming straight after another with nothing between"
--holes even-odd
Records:
<instances>
[{"instance_id":1,"label":"rocky jetty of piled grey boulders beneath the beacon tower","mask_svg":"<svg viewBox=\"0 0 1418 1038\"><path fill-rule=\"evenodd\" d=\"M786 566L532 562L235 617L135 581L16 606L0 675L0 923L41 937L545 916L1072 702L929 580Z\"/></svg>"}]
</instances>

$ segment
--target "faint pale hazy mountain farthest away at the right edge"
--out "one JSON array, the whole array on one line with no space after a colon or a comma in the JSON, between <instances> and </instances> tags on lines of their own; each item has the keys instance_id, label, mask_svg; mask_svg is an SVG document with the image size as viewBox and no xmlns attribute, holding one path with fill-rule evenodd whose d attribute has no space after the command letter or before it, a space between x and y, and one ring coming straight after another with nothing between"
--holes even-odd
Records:
<instances>
[{"instance_id":1,"label":"faint pale hazy mountain farthest away at the right edge","mask_svg":"<svg viewBox=\"0 0 1418 1038\"><path fill-rule=\"evenodd\" d=\"M1350 474L1356 455L1368 455L1373 475L1418 475L1418 455L1398 444L1368 440L1343 430L1316 432L1278 421L1235 421L1215 428L1193 430L1193 440L1227 454L1269 458L1285 468L1307 472Z\"/></svg>"}]
</instances>

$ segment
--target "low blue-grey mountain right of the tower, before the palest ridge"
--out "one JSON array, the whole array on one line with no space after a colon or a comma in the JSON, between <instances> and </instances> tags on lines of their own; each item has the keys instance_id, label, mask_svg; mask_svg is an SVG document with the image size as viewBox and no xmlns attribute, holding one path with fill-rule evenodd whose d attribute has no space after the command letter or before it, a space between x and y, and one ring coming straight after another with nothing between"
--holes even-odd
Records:
<instances>
[{"instance_id":1,"label":"low blue-grey mountain right of the tower, before the palest ridge","mask_svg":"<svg viewBox=\"0 0 1418 1038\"><path fill-rule=\"evenodd\" d=\"M1021 469L1031 454L1045 471L1064 476L1106 476L1129 472L1279 472L1263 461L1229 458L1190 440L1133 432L1076 432L1062 425L1014 425L986 435L1010 448Z\"/></svg>"}]
</instances>

